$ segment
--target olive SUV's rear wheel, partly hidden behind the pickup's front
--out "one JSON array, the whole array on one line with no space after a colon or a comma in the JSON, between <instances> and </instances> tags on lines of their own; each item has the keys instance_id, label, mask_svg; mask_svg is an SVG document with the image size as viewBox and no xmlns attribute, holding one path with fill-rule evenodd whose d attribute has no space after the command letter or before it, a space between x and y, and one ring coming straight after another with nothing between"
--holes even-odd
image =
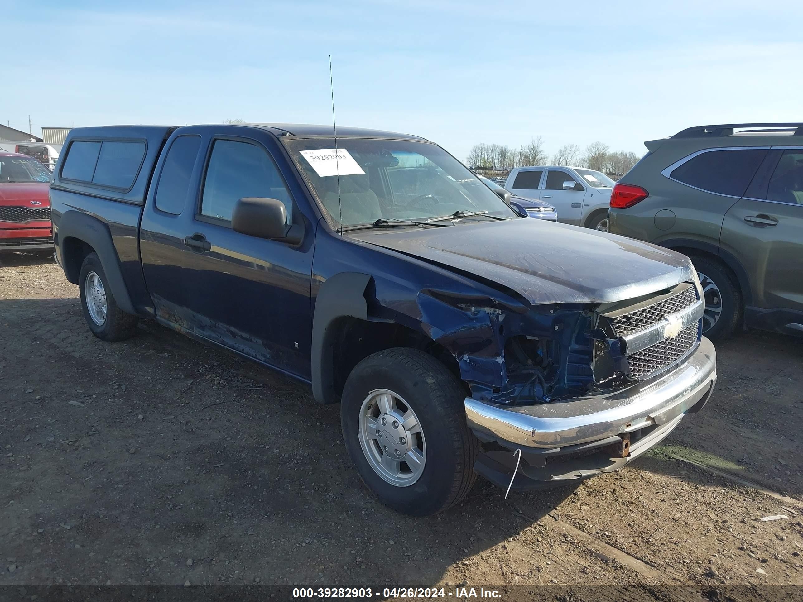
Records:
<instances>
[{"instance_id":1,"label":"olive SUV's rear wheel, partly hidden behind the pickup's front","mask_svg":"<svg viewBox=\"0 0 803 602\"><path fill-rule=\"evenodd\" d=\"M691 262L703 285L706 312L703 315L703 335L711 340L731 336L742 319L742 293L730 270L719 261L705 255L692 255Z\"/></svg>"}]
</instances>

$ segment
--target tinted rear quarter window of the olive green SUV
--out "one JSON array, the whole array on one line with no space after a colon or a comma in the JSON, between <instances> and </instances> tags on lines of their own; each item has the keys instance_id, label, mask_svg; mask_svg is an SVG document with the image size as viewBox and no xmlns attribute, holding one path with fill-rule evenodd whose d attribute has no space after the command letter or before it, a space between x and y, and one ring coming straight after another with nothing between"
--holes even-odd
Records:
<instances>
[{"instance_id":1,"label":"tinted rear quarter window of the olive green SUV","mask_svg":"<svg viewBox=\"0 0 803 602\"><path fill-rule=\"evenodd\" d=\"M707 151L673 169L670 177L711 193L741 197L766 154L766 148Z\"/></svg>"}]
</instances>

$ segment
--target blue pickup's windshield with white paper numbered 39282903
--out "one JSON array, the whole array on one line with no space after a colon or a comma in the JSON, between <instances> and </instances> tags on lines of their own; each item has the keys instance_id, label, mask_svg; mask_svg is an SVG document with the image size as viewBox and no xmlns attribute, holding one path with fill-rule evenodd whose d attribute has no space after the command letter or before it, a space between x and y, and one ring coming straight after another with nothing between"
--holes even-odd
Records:
<instances>
[{"instance_id":1,"label":"blue pickup's windshield with white paper numbered 39282903","mask_svg":"<svg viewBox=\"0 0 803 602\"><path fill-rule=\"evenodd\" d=\"M340 226L457 212L466 214L463 223L518 217L437 144L374 138L337 142L336 148L331 138L285 139L319 204Z\"/></svg>"}]
</instances>

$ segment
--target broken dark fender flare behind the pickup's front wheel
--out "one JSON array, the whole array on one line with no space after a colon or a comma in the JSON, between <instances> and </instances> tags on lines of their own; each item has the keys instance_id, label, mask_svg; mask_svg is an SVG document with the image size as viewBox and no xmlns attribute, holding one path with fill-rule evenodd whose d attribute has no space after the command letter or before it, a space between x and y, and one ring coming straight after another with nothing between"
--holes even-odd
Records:
<instances>
[{"instance_id":1,"label":"broken dark fender flare behind the pickup's front wheel","mask_svg":"<svg viewBox=\"0 0 803 602\"><path fill-rule=\"evenodd\" d=\"M105 267L105 266L104 266ZM312 315L312 397L322 404L340 401L334 388L335 336L332 325L339 318L368 319L365 287L371 277L359 272L340 272L321 285Z\"/></svg>"}]
</instances>

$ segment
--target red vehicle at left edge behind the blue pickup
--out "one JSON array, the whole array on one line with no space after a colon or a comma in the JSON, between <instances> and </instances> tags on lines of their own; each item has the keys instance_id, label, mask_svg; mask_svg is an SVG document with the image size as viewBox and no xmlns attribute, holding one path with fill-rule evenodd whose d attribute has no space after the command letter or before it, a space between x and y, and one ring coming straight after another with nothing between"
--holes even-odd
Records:
<instances>
[{"instance_id":1,"label":"red vehicle at left edge behind the blue pickup","mask_svg":"<svg viewBox=\"0 0 803 602\"><path fill-rule=\"evenodd\" d=\"M0 253L53 250L50 179L33 157L0 153Z\"/></svg>"}]
</instances>

